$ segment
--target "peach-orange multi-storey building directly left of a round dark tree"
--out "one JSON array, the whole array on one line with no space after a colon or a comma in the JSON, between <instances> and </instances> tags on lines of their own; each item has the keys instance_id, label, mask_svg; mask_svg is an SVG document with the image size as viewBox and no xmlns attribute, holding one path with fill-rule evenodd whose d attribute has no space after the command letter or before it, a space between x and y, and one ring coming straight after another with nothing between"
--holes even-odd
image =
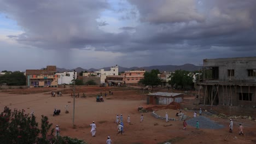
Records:
<instances>
[{"instance_id":1,"label":"peach-orange multi-storey building directly left of a round dark tree","mask_svg":"<svg viewBox=\"0 0 256 144\"><path fill-rule=\"evenodd\" d=\"M144 74L146 73L145 70L129 70L125 71L121 75L124 76L124 83L131 84L131 83L138 83L139 80L144 79Z\"/></svg>"}]
</instances>

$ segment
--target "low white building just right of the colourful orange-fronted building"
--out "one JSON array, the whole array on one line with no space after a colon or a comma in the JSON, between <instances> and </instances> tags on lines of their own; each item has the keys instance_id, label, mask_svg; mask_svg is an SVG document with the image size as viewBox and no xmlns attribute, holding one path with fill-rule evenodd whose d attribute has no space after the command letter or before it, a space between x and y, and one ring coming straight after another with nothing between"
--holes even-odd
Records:
<instances>
[{"instance_id":1,"label":"low white building just right of the colourful orange-fronted building","mask_svg":"<svg viewBox=\"0 0 256 144\"><path fill-rule=\"evenodd\" d=\"M58 79L58 85L67 84L69 85L72 83L72 80L74 79L74 72L66 72L63 73L56 73L55 75L60 75L60 78ZM75 79L77 79L77 72L75 72Z\"/></svg>"}]
</instances>

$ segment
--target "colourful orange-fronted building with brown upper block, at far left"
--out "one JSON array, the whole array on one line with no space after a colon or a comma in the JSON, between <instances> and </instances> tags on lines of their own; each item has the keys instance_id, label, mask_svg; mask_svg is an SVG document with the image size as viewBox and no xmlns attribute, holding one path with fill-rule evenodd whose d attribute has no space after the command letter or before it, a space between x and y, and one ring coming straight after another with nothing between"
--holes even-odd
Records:
<instances>
[{"instance_id":1,"label":"colourful orange-fronted building with brown upper block, at far left","mask_svg":"<svg viewBox=\"0 0 256 144\"><path fill-rule=\"evenodd\" d=\"M27 69L26 83L29 87L57 87L56 66L48 65L46 69Z\"/></svg>"}]
</instances>

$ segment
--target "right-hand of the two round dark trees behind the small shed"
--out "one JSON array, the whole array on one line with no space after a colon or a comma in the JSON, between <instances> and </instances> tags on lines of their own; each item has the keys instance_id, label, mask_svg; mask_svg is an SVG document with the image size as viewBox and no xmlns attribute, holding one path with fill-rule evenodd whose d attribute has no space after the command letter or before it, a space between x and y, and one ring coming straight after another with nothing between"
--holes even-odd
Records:
<instances>
[{"instance_id":1,"label":"right-hand of the two round dark trees behind the small shed","mask_svg":"<svg viewBox=\"0 0 256 144\"><path fill-rule=\"evenodd\" d=\"M181 88L193 86L193 77L190 75L189 71L175 70L175 72L172 73L169 78L171 78L171 80L168 81L168 83L172 86L181 86Z\"/></svg>"}]
</instances>

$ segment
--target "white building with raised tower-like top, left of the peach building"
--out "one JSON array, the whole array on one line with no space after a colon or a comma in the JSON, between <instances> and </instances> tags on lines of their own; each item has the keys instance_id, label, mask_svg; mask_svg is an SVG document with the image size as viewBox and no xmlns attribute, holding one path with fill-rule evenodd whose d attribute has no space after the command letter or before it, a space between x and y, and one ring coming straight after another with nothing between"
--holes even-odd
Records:
<instances>
[{"instance_id":1,"label":"white building with raised tower-like top, left of the peach building","mask_svg":"<svg viewBox=\"0 0 256 144\"><path fill-rule=\"evenodd\" d=\"M104 69L100 69L98 71L94 71L94 73L97 73L98 76L101 77L101 83L105 83L105 80L107 76L109 75L118 75L118 65L115 65L115 67L111 67L109 71L105 71Z\"/></svg>"}]
</instances>

